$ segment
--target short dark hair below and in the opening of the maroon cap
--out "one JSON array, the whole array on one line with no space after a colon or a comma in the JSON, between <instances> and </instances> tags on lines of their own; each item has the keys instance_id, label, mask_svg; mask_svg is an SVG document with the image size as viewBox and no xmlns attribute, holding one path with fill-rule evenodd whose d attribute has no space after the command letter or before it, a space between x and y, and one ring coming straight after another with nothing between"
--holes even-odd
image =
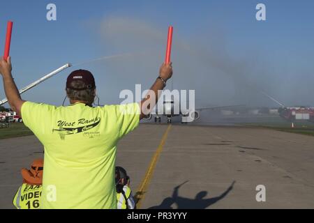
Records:
<instances>
[{"instance_id":1,"label":"short dark hair below and in the opening of the maroon cap","mask_svg":"<svg viewBox=\"0 0 314 223\"><path fill-rule=\"evenodd\" d=\"M70 86L74 89L85 89L86 84L80 80L75 80L70 83ZM68 98L71 100L81 100L84 102L88 102L92 104L95 99L95 89L85 89L85 90L73 90L73 89L66 89L66 93Z\"/></svg>"}]
</instances>

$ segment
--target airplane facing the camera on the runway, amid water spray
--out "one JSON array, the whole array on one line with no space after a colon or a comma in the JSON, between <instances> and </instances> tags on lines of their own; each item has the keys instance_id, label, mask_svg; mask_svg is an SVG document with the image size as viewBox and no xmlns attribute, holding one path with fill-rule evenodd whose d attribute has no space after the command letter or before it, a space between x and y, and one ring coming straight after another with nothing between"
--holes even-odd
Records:
<instances>
[{"instance_id":1,"label":"airplane facing the camera on the runway, amid water spray","mask_svg":"<svg viewBox=\"0 0 314 223\"><path fill-rule=\"evenodd\" d=\"M160 105L160 104L158 104ZM180 107L177 107L175 109L175 106L180 105L178 102L175 102L174 100L164 100L162 104L162 109L158 109L158 105L156 105L157 109L155 109L151 114L145 116L143 119L145 121L150 121L153 115L155 116L154 122L160 123L161 117L160 116L166 116L167 117L167 123L172 123L172 118L174 116L181 116L181 123L187 124L193 121L197 121L200 119L200 112L203 110L211 110L211 109L223 109L228 107L243 107L244 105L227 105L227 106L220 106L220 107L200 107L197 109L184 109L181 110Z\"/></svg>"}]
</instances>

